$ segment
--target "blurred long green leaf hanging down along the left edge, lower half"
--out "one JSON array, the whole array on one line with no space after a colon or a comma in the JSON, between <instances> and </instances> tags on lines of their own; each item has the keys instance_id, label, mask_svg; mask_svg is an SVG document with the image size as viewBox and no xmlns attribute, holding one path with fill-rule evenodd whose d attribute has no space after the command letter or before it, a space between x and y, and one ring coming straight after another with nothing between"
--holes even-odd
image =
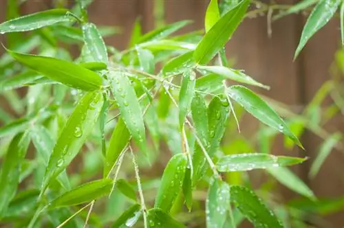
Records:
<instances>
[{"instance_id":1,"label":"blurred long green leaf hanging down along the left edge, lower half","mask_svg":"<svg viewBox=\"0 0 344 228\"><path fill-rule=\"evenodd\" d=\"M6 212L10 201L17 192L21 164L28 150L28 135L16 135L8 147L8 152L3 158L0 172L0 218Z\"/></svg>"}]
</instances>

